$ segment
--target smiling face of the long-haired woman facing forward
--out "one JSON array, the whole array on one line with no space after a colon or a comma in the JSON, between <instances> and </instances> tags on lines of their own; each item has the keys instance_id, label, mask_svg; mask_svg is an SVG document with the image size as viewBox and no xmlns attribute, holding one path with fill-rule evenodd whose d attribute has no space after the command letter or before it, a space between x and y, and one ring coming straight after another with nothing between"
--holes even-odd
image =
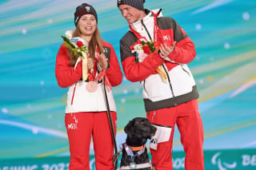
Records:
<instances>
[{"instance_id":1,"label":"smiling face of the long-haired woman facing forward","mask_svg":"<svg viewBox=\"0 0 256 170\"><path fill-rule=\"evenodd\" d=\"M84 14L78 21L78 29L81 32L81 37L86 39L88 42L94 34L94 31L97 28L97 21L94 15Z\"/></svg>"}]
</instances>

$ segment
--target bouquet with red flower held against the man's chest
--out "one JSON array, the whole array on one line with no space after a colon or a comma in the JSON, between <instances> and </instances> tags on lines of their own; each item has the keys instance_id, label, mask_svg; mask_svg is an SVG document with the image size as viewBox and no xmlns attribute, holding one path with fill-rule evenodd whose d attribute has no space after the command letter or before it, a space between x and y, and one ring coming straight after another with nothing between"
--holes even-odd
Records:
<instances>
[{"instance_id":1,"label":"bouquet with red flower held against the man's chest","mask_svg":"<svg viewBox=\"0 0 256 170\"><path fill-rule=\"evenodd\" d=\"M154 42L152 40L150 42L147 42L145 38L141 38L131 47L131 52L136 52L135 62L142 62L150 53L153 53L156 49L158 49L158 45L154 45ZM158 66L156 72L159 73L162 81L166 83L167 77L165 71L162 68L162 65Z\"/></svg>"}]
</instances>

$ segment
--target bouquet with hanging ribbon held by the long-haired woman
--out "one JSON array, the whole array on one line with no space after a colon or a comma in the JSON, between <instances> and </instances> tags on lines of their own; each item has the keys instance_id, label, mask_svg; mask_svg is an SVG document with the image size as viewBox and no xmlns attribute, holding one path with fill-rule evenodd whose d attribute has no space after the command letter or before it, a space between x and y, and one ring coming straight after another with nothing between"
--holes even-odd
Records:
<instances>
[{"instance_id":1,"label":"bouquet with hanging ribbon held by the long-haired woman","mask_svg":"<svg viewBox=\"0 0 256 170\"><path fill-rule=\"evenodd\" d=\"M79 56L74 65L74 69L78 65L78 62L82 60L82 80L86 81L88 77L86 42L83 41L82 38L72 38L72 33L72 31L66 31L66 36L62 36L64 45L72 51L74 56Z\"/></svg>"}]
</instances>

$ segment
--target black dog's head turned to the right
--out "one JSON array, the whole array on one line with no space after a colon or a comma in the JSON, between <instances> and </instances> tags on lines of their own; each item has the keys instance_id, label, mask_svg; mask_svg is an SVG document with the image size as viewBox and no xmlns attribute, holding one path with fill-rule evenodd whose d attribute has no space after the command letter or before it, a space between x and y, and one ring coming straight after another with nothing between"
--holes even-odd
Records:
<instances>
[{"instance_id":1,"label":"black dog's head turned to the right","mask_svg":"<svg viewBox=\"0 0 256 170\"><path fill-rule=\"evenodd\" d=\"M150 121L144 117L135 117L125 127L127 134L126 143L131 145L145 144L147 139L154 136L157 128L151 125Z\"/></svg>"}]
</instances>

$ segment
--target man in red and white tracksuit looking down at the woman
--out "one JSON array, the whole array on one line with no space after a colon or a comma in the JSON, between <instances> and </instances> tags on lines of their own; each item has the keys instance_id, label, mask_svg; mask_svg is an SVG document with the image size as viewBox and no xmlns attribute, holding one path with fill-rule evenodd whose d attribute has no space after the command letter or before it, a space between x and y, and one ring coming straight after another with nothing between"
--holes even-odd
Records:
<instances>
[{"instance_id":1,"label":"man in red and white tracksuit looking down at the woman","mask_svg":"<svg viewBox=\"0 0 256 170\"><path fill-rule=\"evenodd\" d=\"M161 10L144 9L144 2L118 0L130 26L120 40L120 53L126 78L142 84L146 117L158 128L150 144L152 164L156 170L173 169L171 150L177 125L186 152L186 170L202 170L199 95L186 65L196 55L194 43L173 18L162 17Z\"/></svg>"}]
</instances>

